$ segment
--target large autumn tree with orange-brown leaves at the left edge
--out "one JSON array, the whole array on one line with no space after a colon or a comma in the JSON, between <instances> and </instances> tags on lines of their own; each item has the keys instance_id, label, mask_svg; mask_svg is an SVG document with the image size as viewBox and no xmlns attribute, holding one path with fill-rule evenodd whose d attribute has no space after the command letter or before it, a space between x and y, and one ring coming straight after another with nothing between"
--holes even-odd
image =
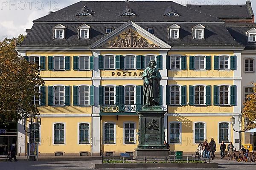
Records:
<instances>
[{"instance_id":1,"label":"large autumn tree with orange-brown leaves at the left edge","mask_svg":"<svg viewBox=\"0 0 256 170\"><path fill-rule=\"evenodd\" d=\"M0 123L39 115L38 105L32 105L31 99L39 98L35 87L44 85L44 80L38 65L29 63L15 50L24 37L20 34L17 39L0 42Z\"/></svg>"}]
</instances>

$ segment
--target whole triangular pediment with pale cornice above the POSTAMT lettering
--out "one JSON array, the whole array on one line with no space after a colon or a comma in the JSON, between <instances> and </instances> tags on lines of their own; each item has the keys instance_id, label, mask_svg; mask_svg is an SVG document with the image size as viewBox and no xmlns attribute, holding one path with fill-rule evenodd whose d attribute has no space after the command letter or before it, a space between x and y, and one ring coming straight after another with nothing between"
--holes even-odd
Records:
<instances>
[{"instance_id":1,"label":"whole triangular pediment with pale cornice above the POSTAMT lettering","mask_svg":"<svg viewBox=\"0 0 256 170\"><path fill-rule=\"evenodd\" d=\"M129 21L93 43L90 48L171 48L171 46Z\"/></svg>"}]
</instances>

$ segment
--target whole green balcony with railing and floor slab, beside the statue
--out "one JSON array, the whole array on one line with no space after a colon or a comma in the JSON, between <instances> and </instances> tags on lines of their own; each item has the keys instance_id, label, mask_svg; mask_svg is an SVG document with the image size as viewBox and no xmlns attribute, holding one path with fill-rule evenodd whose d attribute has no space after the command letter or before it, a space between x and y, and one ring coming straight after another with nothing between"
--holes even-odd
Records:
<instances>
[{"instance_id":1,"label":"whole green balcony with railing and floor slab, beside the statue","mask_svg":"<svg viewBox=\"0 0 256 170\"><path fill-rule=\"evenodd\" d=\"M100 115L137 115L143 105L100 105Z\"/></svg>"}]
</instances>

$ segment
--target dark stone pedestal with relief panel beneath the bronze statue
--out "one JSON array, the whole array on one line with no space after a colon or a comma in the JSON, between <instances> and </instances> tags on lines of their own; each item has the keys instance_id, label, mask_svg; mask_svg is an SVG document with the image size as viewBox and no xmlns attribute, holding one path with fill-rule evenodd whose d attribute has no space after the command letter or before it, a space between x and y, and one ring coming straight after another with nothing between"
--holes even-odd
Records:
<instances>
[{"instance_id":1,"label":"dark stone pedestal with relief panel beneath the bronze statue","mask_svg":"<svg viewBox=\"0 0 256 170\"><path fill-rule=\"evenodd\" d=\"M139 142L135 149L134 159L164 158L168 156L169 150L163 144L164 133L164 114L160 106L143 107L139 114Z\"/></svg>"}]
</instances>

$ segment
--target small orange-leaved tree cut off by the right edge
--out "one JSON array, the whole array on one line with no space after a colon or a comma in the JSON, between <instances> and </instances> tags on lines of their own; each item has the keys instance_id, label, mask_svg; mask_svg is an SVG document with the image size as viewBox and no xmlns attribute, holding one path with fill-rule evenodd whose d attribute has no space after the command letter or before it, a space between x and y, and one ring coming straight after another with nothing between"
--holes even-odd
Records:
<instances>
[{"instance_id":1,"label":"small orange-leaved tree cut off by the right edge","mask_svg":"<svg viewBox=\"0 0 256 170\"><path fill-rule=\"evenodd\" d=\"M253 94L249 94L246 97L246 101L244 102L243 113L249 119L248 129L256 127L256 83L251 82L253 84Z\"/></svg>"}]
</instances>

